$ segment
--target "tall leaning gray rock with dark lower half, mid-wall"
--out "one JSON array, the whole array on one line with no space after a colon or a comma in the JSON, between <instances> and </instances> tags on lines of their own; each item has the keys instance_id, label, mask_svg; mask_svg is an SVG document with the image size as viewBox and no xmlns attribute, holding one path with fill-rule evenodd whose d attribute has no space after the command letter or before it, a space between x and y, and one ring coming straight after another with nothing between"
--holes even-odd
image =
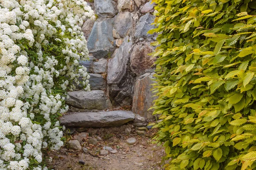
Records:
<instances>
[{"instance_id":1,"label":"tall leaning gray rock with dark lower half, mid-wall","mask_svg":"<svg viewBox=\"0 0 256 170\"><path fill-rule=\"evenodd\" d=\"M134 77L128 70L131 46L131 38L125 37L114 57L108 62L108 94L115 105L130 105L132 102Z\"/></svg>"}]
</instances>

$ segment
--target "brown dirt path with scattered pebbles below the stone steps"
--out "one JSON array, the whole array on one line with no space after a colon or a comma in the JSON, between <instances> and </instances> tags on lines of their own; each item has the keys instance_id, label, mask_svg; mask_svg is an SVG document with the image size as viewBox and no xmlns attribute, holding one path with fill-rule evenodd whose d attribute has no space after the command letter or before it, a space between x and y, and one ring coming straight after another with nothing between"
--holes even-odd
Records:
<instances>
[{"instance_id":1,"label":"brown dirt path with scattered pebbles below the stone steps","mask_svg":"<svg viewBox=\"0 0 256 170\"><path fill-rule=\"evenodd\" d=\"M120 132L127 127L89 128L86 130L88 136L80 142L82 147L87 149L85 152L63 147L49 154L52 158L49 165L54 170L163 170L164 149L151 143L150 136L154 135L154 130L148 130L142 136ZM135 130L132 128L131 133ZM79 134L69 137L72 140L77 135ZM126 139L130 137L137 139L137 142L127 144ZM97 139L98 144L89 144L90 139ZM104 146L117 152L108 152L107 155L101 156L100 152Z\"/></svg>"}]
</instances>

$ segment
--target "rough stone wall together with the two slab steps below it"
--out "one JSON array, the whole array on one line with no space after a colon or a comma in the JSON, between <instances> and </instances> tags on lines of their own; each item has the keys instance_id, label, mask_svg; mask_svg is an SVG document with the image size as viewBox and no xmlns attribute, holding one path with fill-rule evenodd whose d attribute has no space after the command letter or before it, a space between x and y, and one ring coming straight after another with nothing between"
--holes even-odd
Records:
<instances>
[{"instance_id":1,"label":"rough stone wall together with the two slab steps below it","mask_svg":"<svg viewBox=\"0 0 256 170\"><path fill-rule=\"evenodd\" d=\"M148 54L156 35L147 34L154 28L154 3L148 0L94 0L89 3L97 20L86 20L82 27L87 38L90 57L80 64L90 73L90 92L69 92L67 104L73 113L61 118L69 126L108 127L122 125L135 114L152 119L155 58ZM132 112L110 112L108 108L132 105ZM91 112L101 110L99 112ZM105 111L102 111L105 110ZM112 119L112 120L111 120ZM68 121L70 120L70 121ZM94 122L94 123L93 123ZM144 125L146 122L134 122Z\"/></svg>"}]
</instances>

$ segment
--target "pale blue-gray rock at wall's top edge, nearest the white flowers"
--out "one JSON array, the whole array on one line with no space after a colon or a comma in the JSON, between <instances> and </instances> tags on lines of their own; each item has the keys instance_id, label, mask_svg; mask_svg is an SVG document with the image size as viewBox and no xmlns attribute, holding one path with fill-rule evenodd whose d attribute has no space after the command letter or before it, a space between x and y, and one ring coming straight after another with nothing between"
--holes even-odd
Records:
<instances>
[{"instance_id":1,"label":"pale blue-gray rock at wall's top edge, nearest the white flowers","mask_svg":"<svg viewBox=\"0 0 256 170\"><path fill-rule=\"evenodd\" d=\"M94 0L94 6L99 17L113 17L116 13L112 0Z\"/></svg>"}]
</instances>

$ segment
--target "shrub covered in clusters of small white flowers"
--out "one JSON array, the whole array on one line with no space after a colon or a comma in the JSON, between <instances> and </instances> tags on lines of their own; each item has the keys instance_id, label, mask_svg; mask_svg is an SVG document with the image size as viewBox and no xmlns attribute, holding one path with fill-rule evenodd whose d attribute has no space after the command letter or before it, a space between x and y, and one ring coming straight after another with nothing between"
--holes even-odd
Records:
<instances>
[{"instance_id":1,"label":"shrub covered in clusters of small white flowers","mask_svg":"<svg viewBox=\"0 0 256 170\"><path fill-rule=\"evenodd\" d=\"M63 145L66 91L90 90L87 17L83 0L0 0L0 170L46 170L41 149Z\"/></svg>"}]
</instances>

